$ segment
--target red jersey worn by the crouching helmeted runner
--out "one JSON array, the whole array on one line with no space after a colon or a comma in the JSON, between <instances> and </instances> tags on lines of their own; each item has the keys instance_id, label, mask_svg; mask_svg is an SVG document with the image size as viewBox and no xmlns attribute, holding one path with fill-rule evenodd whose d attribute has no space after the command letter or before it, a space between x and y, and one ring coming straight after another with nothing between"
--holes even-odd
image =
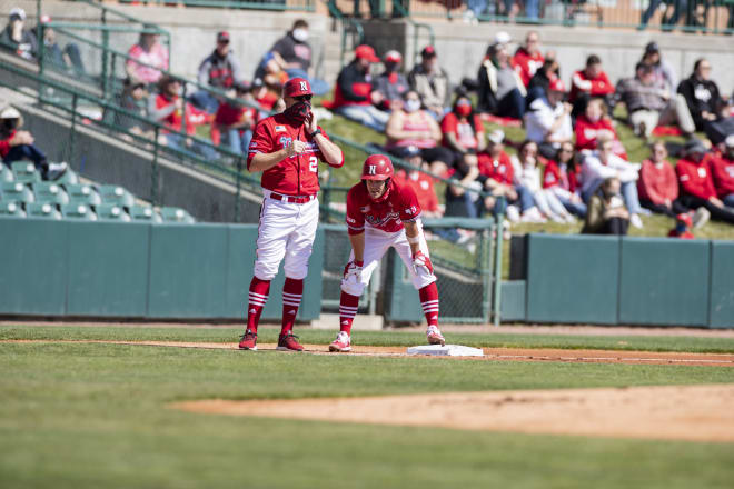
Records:
<instances>
[{"instance_id":1,"label":"red jersey worn by the crouching helmeted runner","mask_svg":"<svg viewBox=\"0 0 734 489\"><path fill-rule=\"evenodd\" d=\"M349 234L359 234L365 226L385 232L403 229L403 221L413 221L420 216L416 192L408 186L398 186L390 179L387 199L375 202L363 182L347 193L347 227Z\"/></svg>"}]
</instances>

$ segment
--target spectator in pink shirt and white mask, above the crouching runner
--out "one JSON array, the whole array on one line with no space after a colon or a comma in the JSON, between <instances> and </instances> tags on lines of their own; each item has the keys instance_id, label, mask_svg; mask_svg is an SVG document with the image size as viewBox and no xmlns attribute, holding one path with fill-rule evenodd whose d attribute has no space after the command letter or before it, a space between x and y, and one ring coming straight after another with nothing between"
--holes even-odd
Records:
<instances>
[{"instance_id":1,"label":"spectator in pink shirt and white mask, above the crouching runner","mask_svg":"<svg viewBox=\"0 0 734 489\"><path fill-rule=\"evenodd\" d=\"M415 90L404 94L403 107L393 111L385 133L389 152L399 156L405 148L417 148L435 176L444 177L454 164L452 150L439 146L443 134L438 122L420 108L420 98Z\"/></svg>"}]
</instances>

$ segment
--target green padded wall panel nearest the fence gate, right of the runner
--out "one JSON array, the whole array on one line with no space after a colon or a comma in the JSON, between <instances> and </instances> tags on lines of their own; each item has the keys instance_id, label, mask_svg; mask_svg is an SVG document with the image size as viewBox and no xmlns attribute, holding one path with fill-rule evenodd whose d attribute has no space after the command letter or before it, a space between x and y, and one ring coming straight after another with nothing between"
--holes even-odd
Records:
<instances>
[{"instance_id":1,"label":"green padded wall panel nearest the fence gate, right of the runner","mask_svg":"<svg viewBox=\"0 0 734 489\"><path fill-rule=\"evenodd\" d=\"M527 321L617 322L619 239L530 234Z\"/></svg>"}]
</instances>

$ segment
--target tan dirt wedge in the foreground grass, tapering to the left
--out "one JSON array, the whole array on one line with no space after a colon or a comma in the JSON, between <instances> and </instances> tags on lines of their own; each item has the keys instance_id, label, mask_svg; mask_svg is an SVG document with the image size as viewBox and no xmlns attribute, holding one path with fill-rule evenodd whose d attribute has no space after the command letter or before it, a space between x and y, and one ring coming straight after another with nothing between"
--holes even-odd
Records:
<instances>
[{"instance_id":1,"label":"tan dirt wedge in the foreground grass, tapering to the left","mask_svg":"<svg viewBox=\"0 0 734 489\"><path fill-rule=\"evenodd\" d=\"M200 400L191 412L462 430L734 442L734 385Z\"/></svg>"}]
</instances>

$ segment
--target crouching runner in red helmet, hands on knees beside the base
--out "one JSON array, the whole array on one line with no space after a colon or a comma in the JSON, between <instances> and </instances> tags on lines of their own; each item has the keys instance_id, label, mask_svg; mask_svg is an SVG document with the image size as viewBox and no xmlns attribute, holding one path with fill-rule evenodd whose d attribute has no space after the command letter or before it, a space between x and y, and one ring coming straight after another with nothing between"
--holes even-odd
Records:
<instances>
[{"instance_id":1,"label":"crouching runner in red helmet, hands on knees beside the base","mask_svg":"<svg viewBox=\"0 0 734 489\"><path fill-rule=\"evenodd\" d=\"M420 226L420 207L415 191L393 180L393 162L381 154L365 161L361 181L347 194L347 226L351 255L344 268L337 339L329 351L351 350L351 321L357 315L359 296L369 283L385 252L395 248L413 277L428 321L426 335L432 345L444 345L438 329L438 289L428 246Z\"/></svg>"}]
</instances>

